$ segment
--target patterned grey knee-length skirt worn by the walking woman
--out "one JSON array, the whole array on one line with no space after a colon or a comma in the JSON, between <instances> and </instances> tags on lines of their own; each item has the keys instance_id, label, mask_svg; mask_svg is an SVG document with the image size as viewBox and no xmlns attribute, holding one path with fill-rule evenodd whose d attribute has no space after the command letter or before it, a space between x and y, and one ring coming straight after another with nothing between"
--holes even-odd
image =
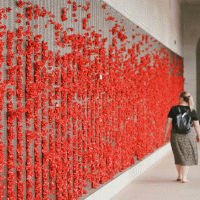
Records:
<instances>
[{"instance_id":1,"label":"patterned grey knee-length skirt worn by the walking woman","mask_svg":"<svg viewBox=\"0 0 200 200\"><path fill-rule=\"evenodd\" d=\"M175 164L191 166L198 165L197 139L194 128L188 134L171 131L171 147Z\"/></svg>"}]
</instances>

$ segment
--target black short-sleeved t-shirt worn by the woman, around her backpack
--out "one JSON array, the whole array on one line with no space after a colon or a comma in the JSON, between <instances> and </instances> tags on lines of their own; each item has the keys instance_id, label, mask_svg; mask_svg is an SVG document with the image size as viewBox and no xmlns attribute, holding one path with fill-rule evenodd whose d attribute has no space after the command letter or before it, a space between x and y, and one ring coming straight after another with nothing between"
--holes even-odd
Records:
<instances>
[{"instance_id":1,"label":"black short-sleeved t-shirt worn by the woman, around her backpack","mask_svg":"<svg viewBox=\"0 0 200 200\"><path fill-rule=\"evenodd\" d=\"M171 110L169 111L169 114L168 114L168 117L172 118L172 126L173 127L175 125L175 117L179 114L178 107L181 109L182 113L187 112L188 110L190 110L189 106L182 106L182 105L173 106L171 108ZM191 116L192 120L194 120L194 121L198 120L197 113L196 113L196 111L194 109L192 110L192 112L189 112L189 113L190 113L190 116Z\"/></svg>"}]
</instances>

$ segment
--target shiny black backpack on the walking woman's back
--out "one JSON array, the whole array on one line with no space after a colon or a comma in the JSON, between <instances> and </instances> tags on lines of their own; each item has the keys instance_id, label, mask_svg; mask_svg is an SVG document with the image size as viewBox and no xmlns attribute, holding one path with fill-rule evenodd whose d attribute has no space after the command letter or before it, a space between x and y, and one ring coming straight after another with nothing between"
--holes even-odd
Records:
<instances>
[{"instance_id":1,"label":"shiny black backpack on the walking woman's back","mask_svg":"<svg viewBox=\"0 0 200 200\"><path fill-rule=\"evenodd\" d=\"M182 113L180 107L178 107L178 112L179 114L176 115L176 119L175 119L176 120L175 130L177 133L187 134L190 132L190 128L192 125L190 110Z\"/></svg>"}]
</instances>

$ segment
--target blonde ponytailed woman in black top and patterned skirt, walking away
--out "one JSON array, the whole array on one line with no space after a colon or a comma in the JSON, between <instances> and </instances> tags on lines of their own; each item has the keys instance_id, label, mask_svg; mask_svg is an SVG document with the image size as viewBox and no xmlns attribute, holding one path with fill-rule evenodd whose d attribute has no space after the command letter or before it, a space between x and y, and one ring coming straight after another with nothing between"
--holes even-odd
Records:
<instances>
[{"instance_id":1,"label":"blonde ponytailed woman in black top and patterned skirt, walking away","mask_svg":"<svg viewBox=\"0 0 200 200\"><path fill-rule=\"evenodd\" d=\"M197 113L193 109L193 98L188 92L182 92L179 98L179 105L173 106L168 114L168 120L165 129L165 140L168 141L168 132L172 124L171 130L171 147L174 154L174 160L178 171L177 181L188 183L187 174L189 166L198 164L197 142L200 140L200 128ZM181 113L181 115L180 115ZM178 116L187 115L191 119L191 128L189 131L180 133L177 124ZM182 118L181 118L182 119ZM194 126L194 128L193 128ZM196 133L195 133L195 131Z\"/></svg>"}]
</instances>

